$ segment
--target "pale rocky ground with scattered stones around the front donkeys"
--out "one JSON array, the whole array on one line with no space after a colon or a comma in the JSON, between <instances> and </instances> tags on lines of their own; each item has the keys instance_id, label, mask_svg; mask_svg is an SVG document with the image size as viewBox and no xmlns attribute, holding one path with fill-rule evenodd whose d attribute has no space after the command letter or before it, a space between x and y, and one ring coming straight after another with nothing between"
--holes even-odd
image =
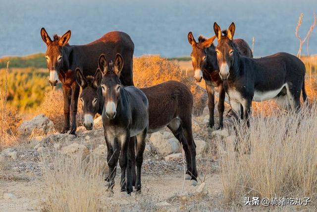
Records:
<instances>
[{"instance_id":1,"label":"pale rocky ground with scattered stones around the front donkeys","mask_svg":"<svg viewBox=\"0 0 317 212\"><path fill-rule=\"evenodd\" d=\"M122 198L117 171L114 195L100 200L105 209L135 210L216 210L222 198L214 137L226 138L228 130L207 129L208 109L193 118L194 140L197 145L198 185L185 181L183 155L179 142L167 128L147 138L142 173L142 194ZM215 120L218 120L216 117ZM225 121L230 121L225 118ZM226 123L225 123L226 124ZM59 134L53 123L39 115L24 122L19 131L20 143L0 152L0 211L41 211L47 196L44 166L50 166L52 152L66 156L79 152L106 158L106 145L101 118L95 119L94 130L77 129L77 135ZM45 162L49 161L49 163ZM105 164L106 166L106 164ZM119 167L119 166L118 166ZM106 186L104 189L106 191ZM106 192L105 192L106 193Z\"/></svg>"}]
</instances>

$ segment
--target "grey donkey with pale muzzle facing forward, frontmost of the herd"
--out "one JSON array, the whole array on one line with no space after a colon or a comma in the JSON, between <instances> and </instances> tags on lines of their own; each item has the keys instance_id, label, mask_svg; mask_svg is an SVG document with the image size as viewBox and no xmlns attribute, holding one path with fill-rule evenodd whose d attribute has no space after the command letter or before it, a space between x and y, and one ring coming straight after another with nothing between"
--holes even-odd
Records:
<instances>
[{"instance_id":1,"label":"grey donkey with pale muzzle facing forward, frontmost of the herd","mask_svg":"<svg viewBox=\"0 0 317 212\"><path fill-rule=\"evenodd\" d=\"M108 149L107 161L109 166L108 190L112 191L116 164L119 159L121 167L121 192L130 194L132 188L131 155L128 153L130 137L137 137L136 155L136 185L137 192L141 191L141 166L145 149L145 138L149 127L149 102L146 95L134 86L123 87L119 79L123 68L123 59L117 54L108 65L105 55L99 58L96 85L101 85L104 99L102 113L105 140ZM77 71L78 73L78 71ZM82 85L82 84L81 84ZM134 140L131 140L131 142Z\"/></svg>"}]
</instances>

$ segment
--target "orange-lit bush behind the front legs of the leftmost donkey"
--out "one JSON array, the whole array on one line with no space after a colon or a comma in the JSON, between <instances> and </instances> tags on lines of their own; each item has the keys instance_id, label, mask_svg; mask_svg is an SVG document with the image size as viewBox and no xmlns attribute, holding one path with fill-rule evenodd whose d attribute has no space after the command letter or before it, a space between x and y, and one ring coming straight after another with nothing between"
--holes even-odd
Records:
<instances>
[{"instance_id":1,"label":"orange-lit bush behind the front legs of the leftmost donkey","mask_svg":"<svg viewBox=\"0 0 317 212\"><path fill-rule=\"evenodd\" d=\"M40 105L38 114L45 114L54 123L54 128L57 131L61 131L64 125L64 97L62 90L52 90L45 93L44 100ZM84 123L82 105L78 104L77 126L81 126Z\"/></svg>"}]
</instances>

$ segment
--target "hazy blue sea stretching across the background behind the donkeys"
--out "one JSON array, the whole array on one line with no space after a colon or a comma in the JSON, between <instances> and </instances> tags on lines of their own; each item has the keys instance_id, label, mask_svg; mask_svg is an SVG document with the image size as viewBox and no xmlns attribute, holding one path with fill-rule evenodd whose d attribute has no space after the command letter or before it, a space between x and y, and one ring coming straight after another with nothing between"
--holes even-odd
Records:
<instances>
[{"instance_id":1,"label":"hazy blue sea stretching across the background behind the donkeys","mask_svg":"<svg viewBox=\"0 0 317 212\"><path fill-rule=\"evenodd\" d=\"M317 0L0 0L0 57L45 52L41 27L51 37L71 29L74 45L119 30L131 36L135 56L188 56L188 32L210 37L214 21L223 29L235 22L235 38L250 46L255 37L255 56L296 54L298 17L304 13L305 37L314 11ZM317 54L317 27L309 43L310 54Z\"/></svg>"}]
</instances>

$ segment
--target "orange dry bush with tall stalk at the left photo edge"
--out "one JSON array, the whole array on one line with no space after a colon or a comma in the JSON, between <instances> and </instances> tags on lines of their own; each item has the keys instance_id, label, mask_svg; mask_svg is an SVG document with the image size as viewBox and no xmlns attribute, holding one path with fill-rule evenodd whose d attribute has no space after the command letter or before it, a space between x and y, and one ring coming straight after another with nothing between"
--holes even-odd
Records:
<instances>
[{"instance_id":1,"label":"orange dry bush with tall stalk at the left photo edge","mask_svg":"<svg viewBox=\"0 0 317 212\"><path fill-rule=\"evenodd\" d=\"M0 150L6 146L16 143L15 133L20 116L7 106L7 74L9 62L5 71L4 80L0 81Z\"/></svg>"}]
</instances>

